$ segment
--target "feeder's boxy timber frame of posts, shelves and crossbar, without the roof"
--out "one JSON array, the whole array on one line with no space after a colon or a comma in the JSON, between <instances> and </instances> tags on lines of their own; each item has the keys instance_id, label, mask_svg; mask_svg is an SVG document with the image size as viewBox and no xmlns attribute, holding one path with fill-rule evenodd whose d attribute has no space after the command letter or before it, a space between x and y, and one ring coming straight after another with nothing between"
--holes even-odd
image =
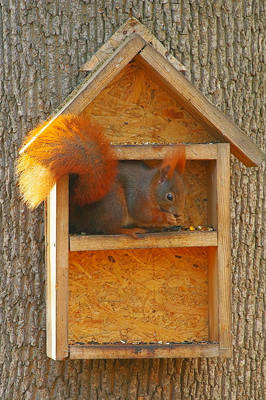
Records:
<instances>
[{"instance_id":1,"label":"feeder's boxy timber frame of posts, shelves and crossbar, without the roof","mask_svg":"<svg viewBox=\"0 0 266 400\"><path fill-rule=\"evenodd\" d=\"M161 159L170 145L115 146L120 160ZM47 355L54 360L98 358L232 357L230 145L186 145L188 160L208 161L208 222L213 232L70 236L68 179L64 176L47 201ZM70 251L139 247L208 246L209 341L196 344L109 344L68 346L68 245Z\"/></svg>"}]
</instances>

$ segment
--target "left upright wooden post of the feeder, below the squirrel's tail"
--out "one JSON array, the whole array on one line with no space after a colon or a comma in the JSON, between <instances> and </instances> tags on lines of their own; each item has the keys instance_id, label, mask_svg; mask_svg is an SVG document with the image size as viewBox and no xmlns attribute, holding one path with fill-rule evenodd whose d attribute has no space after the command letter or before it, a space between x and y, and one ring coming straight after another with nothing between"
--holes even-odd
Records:
<instances>
[{"instance_id":1,"label":"left upright wooden post of the feeder, below the squirrel's tail","mask_svg":"<svg viewBox=\"0 0 266 400\"><path fill-rule=\"evenodd\" d=\"M47 200L47 356L68 355L68 175L52 189Z\"/></svg>"}]
</instances>

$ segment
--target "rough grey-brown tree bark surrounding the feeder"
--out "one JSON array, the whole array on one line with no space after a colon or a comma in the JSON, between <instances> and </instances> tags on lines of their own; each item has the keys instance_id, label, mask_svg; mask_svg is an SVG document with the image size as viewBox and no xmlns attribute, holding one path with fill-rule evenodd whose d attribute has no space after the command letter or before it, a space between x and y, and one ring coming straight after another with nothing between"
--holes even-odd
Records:
<instances>
[{"instance_id":1,"label":"rough grey-brown tree bark surrounding the feeder","mask_svg":"<svg viewBox=\"0 0 266 400\"><path fill-rule=\"evenodd\" d=\"M233 157L233 359L45 356L43 210L20 203L17 150L130 15L265 150L265 0L0 0L0 399L265 399L266 170Z\"/></svg>"}]
</instances>

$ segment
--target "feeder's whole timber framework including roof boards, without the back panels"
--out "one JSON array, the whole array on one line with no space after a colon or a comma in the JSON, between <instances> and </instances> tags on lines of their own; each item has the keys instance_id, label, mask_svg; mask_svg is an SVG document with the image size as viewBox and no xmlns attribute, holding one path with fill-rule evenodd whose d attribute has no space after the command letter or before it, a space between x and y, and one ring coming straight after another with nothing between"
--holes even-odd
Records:
<instances>
[{"instance_id":1,"label":"feeder's whole timber framework including roof boards, without the back panels","mask_svg":"<svg viewBox=\"0 0 266 400\"><path fill-rule=\"evenodd\" d=\"M125 39L124 39L125 38ZM231 357L230 270L230 150L246 166L258 166L266 154L248 135L188 81L179 62L137 20L129 19L85 64L93 70L69 94L36 136L63 113L79 115L132 61L156 80L164 91L219 142L186 145L188 160L208 160L208 223L213 232L176 232L139 235L72 236L68 238L68 177L60 179L46 202L47 355L70 358ZM181 68L183 70L183 67ZM178 133L176 139L178 141ZM200 138L199 138L200 141ZM162 159L170 145L114 146L120 160ZM68 347L68 249L207 246L209 273L209 341L191 345L90 345Z\"/></svg>"}]
</instances>

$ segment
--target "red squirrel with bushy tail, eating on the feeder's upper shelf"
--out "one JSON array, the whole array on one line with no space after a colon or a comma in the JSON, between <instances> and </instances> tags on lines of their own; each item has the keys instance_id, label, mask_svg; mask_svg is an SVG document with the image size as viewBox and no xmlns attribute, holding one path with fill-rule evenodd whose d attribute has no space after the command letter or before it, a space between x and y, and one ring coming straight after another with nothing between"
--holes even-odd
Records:
<instances>
[{"instance_id":1,"label":"red squirrel with bushy tail, eating on the feeder's upper shelf","mask_svg":"<svg viewBox=\"0 0 266 400\"><path fill-rule=\"evenodd\" d=\"M140 227L181 225L185 202L185 147L176 145L151 168L117 161L102 127L86 116L66 114L29 132L17 163L23 200L34 209L69 173L69 232L127 234ZM31 143L34 138L34 142Z\"/></svg>"}]
</instances>

